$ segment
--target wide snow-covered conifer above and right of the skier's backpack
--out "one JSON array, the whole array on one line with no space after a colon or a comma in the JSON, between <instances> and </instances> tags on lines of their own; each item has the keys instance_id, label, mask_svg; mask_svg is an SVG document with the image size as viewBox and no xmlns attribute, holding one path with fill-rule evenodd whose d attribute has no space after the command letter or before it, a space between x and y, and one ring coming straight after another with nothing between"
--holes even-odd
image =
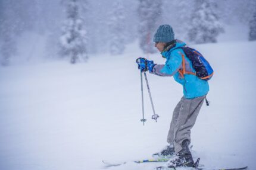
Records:
<instances>
[{"instance_id":1,"label":"wide snow-covered conifer above and right of the skier's backpack","mask_svg":"<svg viewBox=\"0 0 256 170\"><path fill-rule=\"evenodd\" d=\"M195 43L216 43L224 32L217 16L217 4L213 0L196 0L188 30L189 40Z\"/></svg>"}]
</instances>

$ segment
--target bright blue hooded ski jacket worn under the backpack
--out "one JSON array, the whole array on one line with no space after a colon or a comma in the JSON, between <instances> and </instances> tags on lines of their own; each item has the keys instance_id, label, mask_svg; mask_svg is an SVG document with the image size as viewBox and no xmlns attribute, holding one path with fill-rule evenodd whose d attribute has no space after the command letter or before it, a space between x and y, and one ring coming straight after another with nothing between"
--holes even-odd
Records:
<instances>
[{"instance_id":1,"label":"bright blue hooded ski jacket worn under the backpack","mask_svg":"<svg viewBox=\"0 0 256 170\"><path fill-rule=\"evenodd\" d=\"M195 69L192 67L191 61L186 57L180 47L186 44L177 40L176 46L172 47L166 52L162 52L164 58L166 58L165 65L155 65L152 73L159 76L173 76L174 80L183 86L183 94L185 98L192 99L196 97L202 97L209 91L209 85L207 81L198 78L195 75L185 74L182 77L179 73L179 69L182 69L182 54L185 56L185 68L189 72L195 73Z\"/></svg>"}]
</instances>

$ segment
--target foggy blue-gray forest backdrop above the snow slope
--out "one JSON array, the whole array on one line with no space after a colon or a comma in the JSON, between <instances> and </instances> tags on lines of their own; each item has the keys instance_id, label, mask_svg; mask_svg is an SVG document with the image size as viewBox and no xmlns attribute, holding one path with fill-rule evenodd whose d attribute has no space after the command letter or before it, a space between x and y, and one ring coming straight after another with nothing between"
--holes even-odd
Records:
<instances>
[{"instance_id":1,"label":"foggy blue-gray forest backdrop above the snow slope","mask_svg":"<svg viewBox=\"0 0 256 170\"><path fill-rule=\"evenodd\" d=\"M68 28L65 27L67 23L71 20L78 21L77 18L81 19L79 27L82 27L84 34L79 35L81 55L75 62L86 62L95 54L121 54L127 44L136 41L144 53L156 53L152 37L160 24L170 24L177 39L198 43L189 39L189 33L192 33L189 27L192 25L193 14L198 11L196 3L202 2L204 1L1 0L1 65L58 59L70 61L72 54L68 53L68 47L63 45L61 37L68 34ZM256 9L254 0L207 2L214 6L211 8L221 27L216 31L218 34L225 33L226 27L240 25L246 28L242 31L243 34L248 34L249 40L249 23ZM76 7L68 7L68 3L73 3ZM77 12L77 18L68 18L70 8ZM233 36L239 37L236 34Z\"/></svg>"}]
</instances>

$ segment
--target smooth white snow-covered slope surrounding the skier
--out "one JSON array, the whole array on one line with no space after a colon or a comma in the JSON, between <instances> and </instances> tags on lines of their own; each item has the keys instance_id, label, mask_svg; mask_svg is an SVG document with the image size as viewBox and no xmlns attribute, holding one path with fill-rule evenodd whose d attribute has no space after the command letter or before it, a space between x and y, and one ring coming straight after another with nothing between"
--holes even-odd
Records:
<instances>
[{"instance_id":1,"label":"smooth white snow-covered slope surrounding the skier","mask_svg":"<svg viewBox=\"0 0 256 170\"><path fill-rule=\"evenodd\" d=\"M192 45L215 70L208 100L192 129L193 156L207 168L255 165L256 42ZM166 143L182 86L149 75L157 123L145 89L142 126L136 44L122 56L90 56L88 63L47 62L0 68L0 169L105 169L102 159L150 158ZM160 54L149 56L164 63ZM145 84L144 84L145 85ZM153 169L127 163L110 170Z\"/></svg>"}]
</instances>

